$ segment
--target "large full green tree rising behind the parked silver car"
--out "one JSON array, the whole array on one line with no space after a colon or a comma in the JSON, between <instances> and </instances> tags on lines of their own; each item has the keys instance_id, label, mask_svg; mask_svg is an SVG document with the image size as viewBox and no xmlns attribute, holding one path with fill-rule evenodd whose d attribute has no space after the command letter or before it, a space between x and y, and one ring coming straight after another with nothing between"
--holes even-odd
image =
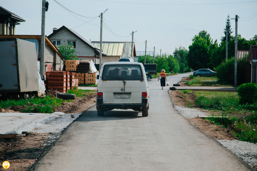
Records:
<instances>
[{"instance_id":1,"label":"large full green tree rising behind the parked silver car","mask_svg":"<svg viewBox=\"0 0 257 171\"><path fill-rule=\"evenodd\" d=\"M189 46L186 60L188 66L193 70L208 68L210 65L210 56L215 51L216 46L213 46L213 40L210 34L203 30L192 38L192 45Z\"/></svg>"}]
</instances>

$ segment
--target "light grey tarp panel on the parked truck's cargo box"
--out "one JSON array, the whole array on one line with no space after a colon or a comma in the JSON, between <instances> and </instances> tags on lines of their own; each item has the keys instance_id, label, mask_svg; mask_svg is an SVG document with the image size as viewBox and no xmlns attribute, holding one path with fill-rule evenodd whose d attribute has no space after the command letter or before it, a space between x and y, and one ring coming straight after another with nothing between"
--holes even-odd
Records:
<instances>
[{"instance_id":1,"label":"light grey tarp panel on the parked truck's cargo box","mask_svg":"<svg viewBox=\"0 0 257 171\"><path fill-rule=\"evenodd\" d=\"M17 38L20 91L39 91L36 44Z\"/></svg>"}]
</instances>

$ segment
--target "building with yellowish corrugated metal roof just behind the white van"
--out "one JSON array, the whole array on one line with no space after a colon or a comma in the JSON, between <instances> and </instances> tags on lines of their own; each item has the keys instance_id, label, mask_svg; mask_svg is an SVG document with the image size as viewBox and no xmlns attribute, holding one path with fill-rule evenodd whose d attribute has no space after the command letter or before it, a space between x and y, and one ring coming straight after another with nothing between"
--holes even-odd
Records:
<instances>
[{"instance_id":1,"label":"building with yellowish corrugated metal roof just behind the white van","mask_svg":"<svg viewBox=\"0 0 257 171\"><path fill-rule=\"evenodd\" d=\"M100 48L100 42L92 41L97 48ZM136 56L135 43L133 42L132 58ZM102 63L104 62L117 62L120 58L131 56L131 42L103 42L103 52L107 54L106 57L102 57Z\"/></svg>"}]
</instances>

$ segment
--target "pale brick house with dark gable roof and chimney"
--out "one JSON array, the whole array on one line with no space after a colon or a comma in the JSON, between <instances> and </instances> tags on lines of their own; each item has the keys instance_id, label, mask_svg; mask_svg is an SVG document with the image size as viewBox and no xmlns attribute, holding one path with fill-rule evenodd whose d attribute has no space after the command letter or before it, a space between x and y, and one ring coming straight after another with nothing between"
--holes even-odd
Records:
<instances>
[{"instance_id":1,"label":"pale brick house with dark gable roof and chimney","mask_svg":"<svg viewBox=\"0 0 257 171\"><path fill-rule=\"evenodd\" d=\"M48 37L57 46L57 48L61 44L71 42L73 47L76 49L75 54L79 58L78 60L91 59L95 64L99 64L99 48L94 46L74 30L62 26L59 29L53 29L53 33ZM106 56L106 54L102 53L102 56Z\"/></svg>"}]
</instances>

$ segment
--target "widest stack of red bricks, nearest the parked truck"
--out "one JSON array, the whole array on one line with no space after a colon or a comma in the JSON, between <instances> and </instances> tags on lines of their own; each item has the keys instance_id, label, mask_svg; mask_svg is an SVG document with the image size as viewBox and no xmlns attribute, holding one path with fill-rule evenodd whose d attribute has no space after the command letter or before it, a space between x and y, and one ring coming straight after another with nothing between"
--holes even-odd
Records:
<instances>
[{"instance_id":1,"label":"widest stack of red bricks, nearest the parked truck","mask_svg":"<svg viewBox=\"0 0 257 171\"><path fill-rule=\"evenodd\" d=\"M47 76L48 89L57 89L59 92L66 92L66 72L50 71Z\"/></svg>"}]
</instances>

